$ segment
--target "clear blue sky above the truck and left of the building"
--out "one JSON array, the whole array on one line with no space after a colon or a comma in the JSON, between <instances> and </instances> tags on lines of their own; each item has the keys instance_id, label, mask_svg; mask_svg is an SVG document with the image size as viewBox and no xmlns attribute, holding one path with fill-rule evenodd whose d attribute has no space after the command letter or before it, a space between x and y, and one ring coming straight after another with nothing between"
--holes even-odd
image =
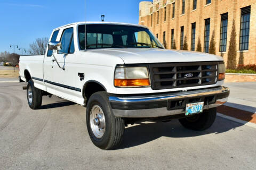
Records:
<instances>
[{"instance_id":1,"label":"clear blue sky above the truck and left of the building","mask_svg":"<svg viewBox=\"0 0 256 170\"><path fill-rule=\"evenodd\" d=\"M149 0L143 0L149 1ZM78 21L139 22L141 0L0 0L0 52L10 44L29 48L36 38L49 38L52 29ZM86 18L85 18L86 11ZM20 53L15 49L15 53Z\"/></svg>"}]
</instances>

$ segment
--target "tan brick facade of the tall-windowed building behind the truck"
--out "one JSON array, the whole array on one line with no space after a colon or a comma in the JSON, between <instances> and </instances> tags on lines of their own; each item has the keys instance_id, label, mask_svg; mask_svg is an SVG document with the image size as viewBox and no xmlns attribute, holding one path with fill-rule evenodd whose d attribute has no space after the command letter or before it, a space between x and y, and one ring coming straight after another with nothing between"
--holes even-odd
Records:
<instances>
[{"instance_id":1,"label":"tan brick facade of the tall-windowed building behind the truck","mask_svg":"<svg viewBox=\"0 0 256 170\"><path fill-rule=\"evenodd\" d=\"M181 0L168 0L165 6L164 0L154 0L153 9L153 27L151 27L150 17L141 16L139 24L146 25L155 34L158 33L158 39L163 43L163 31L166 32L167 48L171 48L171 30L174 29L174 39L177 49L180 49L180 27L184 26L184 36L187 36L188 49L191 49L191 23L196 22L196 44L198 37L200 37L202 48L204 47L204 20L211 18L210 24L210 39L213 29L215 30L215 42L217 55L220 45L220 22L221 14L228 12L228 35L227 35L227 52L223 52L223 58L227 63L227 53L230 40L230 32L232 28L233 19L236 23L236 41L237 41L237 63L239 60L239 29L241 20L241 8L251 5L251 22L250 22L250 39L249 50L243 51L244 64L256 64L256 0L212 0L211 4L206 5L205 0L197 0L197 8L193 10L193 0L186 0L185 14L181 15ZM172 2L175 2L175 18L172 19ZM159 4L159 9L156 8ZM151 8L151 6L149 8ZM163 8L167 8L166 21L164 22ZM156 24L156 12L159 10L159 24ZM150 9L148 10L150 11Z\"/></svg>"}]
</instances>

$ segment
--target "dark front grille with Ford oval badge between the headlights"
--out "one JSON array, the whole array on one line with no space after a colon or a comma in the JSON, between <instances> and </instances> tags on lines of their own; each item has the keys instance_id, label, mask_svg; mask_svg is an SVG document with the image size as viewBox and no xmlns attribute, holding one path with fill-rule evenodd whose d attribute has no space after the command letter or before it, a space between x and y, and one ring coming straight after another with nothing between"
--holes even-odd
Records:
<instances>
[{"instance_id":1,"label":"dark front grille with Ford oval badge between the headlights","mask_svg":"<svg viewBox=\"0 0 256 170\"><path fill-rule=\"evenodd\" d=\"M215 84L218 62L149 64L154 90Z\"/></svg>"}]
</instances>

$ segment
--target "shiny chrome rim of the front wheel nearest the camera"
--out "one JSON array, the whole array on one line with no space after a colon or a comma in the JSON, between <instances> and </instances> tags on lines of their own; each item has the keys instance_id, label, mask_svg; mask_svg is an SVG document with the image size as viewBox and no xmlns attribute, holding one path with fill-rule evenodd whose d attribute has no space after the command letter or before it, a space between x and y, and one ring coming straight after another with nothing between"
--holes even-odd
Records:
<instances>
[{"instance_id":1,"label":"shiny chrome rim of the front wheel nearest the camera","mask_svg":"<svg viewBox=\"0 0 256 170\"><path fill-rule=\"evenodd\" d=\"M90 125L94 136L102 138L105 132L105 116L100 106L94 105L90 113Z\"/></svg>"}]
</instances>

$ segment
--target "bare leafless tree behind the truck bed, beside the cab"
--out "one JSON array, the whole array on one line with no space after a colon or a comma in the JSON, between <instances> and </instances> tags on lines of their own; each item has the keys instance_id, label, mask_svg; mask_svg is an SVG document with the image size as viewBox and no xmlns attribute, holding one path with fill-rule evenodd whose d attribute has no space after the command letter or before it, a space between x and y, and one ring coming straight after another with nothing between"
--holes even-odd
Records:
<instances>
[{"instance_id":1,"label":"bare leafless tree behind the truck bed, beside the cab","mask_svg":"<svg viewBox=\"0 0 256 170\"><path fill-rule=\"evenodd\" d=\"M37 38L36 41L30 44L31 53L34 55L44 55L45 50L48 44L48 39L45 38Z\"/></svg>"}]
</instances>

